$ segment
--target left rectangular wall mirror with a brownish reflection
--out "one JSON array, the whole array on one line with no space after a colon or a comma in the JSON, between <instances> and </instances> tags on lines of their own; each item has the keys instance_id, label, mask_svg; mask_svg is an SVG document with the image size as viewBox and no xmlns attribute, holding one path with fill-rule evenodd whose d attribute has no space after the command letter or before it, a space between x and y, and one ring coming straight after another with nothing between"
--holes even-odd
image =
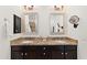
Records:
<instances>
[{"instance_id":1,"label":"left rectangular wall mirror with a brownish reflection","mask_svg":"<svg viewBox=\"0 0 87 65\"><path fill-rule=\"evenodd\" d=\"M37 13L29 13L25 15L25 32L28 34L36 34L37 33Z\"/></svg>"}]
</instances>

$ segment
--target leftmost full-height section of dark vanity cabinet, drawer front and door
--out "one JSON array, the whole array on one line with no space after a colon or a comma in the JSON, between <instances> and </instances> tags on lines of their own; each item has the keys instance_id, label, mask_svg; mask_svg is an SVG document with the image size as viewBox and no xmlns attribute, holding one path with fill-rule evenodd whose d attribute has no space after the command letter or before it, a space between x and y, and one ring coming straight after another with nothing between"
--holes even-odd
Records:
<instances>
[{"instance_id":1,"label":"leftmost full-height section of dark vanity cabinet, drawer front and door","mask_svg":"<svg viewBox=\"0 0 87 65\"><path fill-rule=\"evenodd\" d=\"M23 59L24 47L19 45L11 46L11 58L12 59Z\"/></svg>"}]
</instances>

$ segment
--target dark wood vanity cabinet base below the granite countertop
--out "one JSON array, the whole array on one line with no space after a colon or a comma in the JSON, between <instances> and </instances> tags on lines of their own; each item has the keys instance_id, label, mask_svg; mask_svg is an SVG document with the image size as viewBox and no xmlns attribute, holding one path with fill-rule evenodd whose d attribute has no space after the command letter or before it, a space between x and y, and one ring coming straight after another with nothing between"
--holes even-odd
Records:
<instances>
[{"instance_id":1,"label":"dark wood vanity cabinet base below the granite countertop","mask_svg":"<svg viewBox=\"0 0 87 65\"><path fill-rule=\"evenodd\" d=\"M12 45L12 59L76 59L77 45Z\"/></svg>"}]
</instances>

